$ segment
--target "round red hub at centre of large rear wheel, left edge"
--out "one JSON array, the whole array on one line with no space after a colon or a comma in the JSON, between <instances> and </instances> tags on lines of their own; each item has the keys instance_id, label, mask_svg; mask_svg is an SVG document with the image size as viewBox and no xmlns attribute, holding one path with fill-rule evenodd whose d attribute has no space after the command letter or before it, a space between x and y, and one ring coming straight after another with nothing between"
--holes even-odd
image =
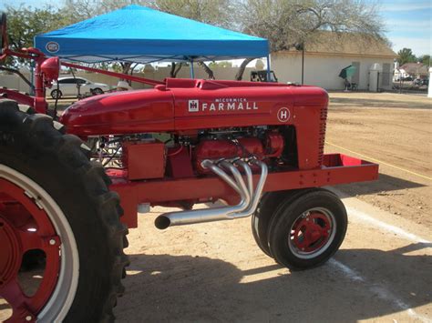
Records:
<instances>
[{"instance_id":1,"label":"round red hub at centre of large rear wheel, left edge","mask_svg":"<svg viewBox=\"0 0 432 323\"><path fill-rule=\"evenodd\" d=\"M0 286L14 278L21 266L22 248L15 229L0 214Z\"/></svg>"}]
</instances>

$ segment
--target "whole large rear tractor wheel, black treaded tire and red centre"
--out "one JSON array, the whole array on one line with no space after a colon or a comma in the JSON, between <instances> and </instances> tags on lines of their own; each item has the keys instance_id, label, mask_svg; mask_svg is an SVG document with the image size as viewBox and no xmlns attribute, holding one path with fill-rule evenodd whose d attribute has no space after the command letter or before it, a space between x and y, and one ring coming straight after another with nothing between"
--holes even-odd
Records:
<instances>
[{"instance_id":1,"label":"whole large rear tractor wheel, black treaded tire and red centre","mask_svg":"<svg viewBox=\"0 0 432 323\"><path fill-rule=\"evenodd\" d=\"M55 126L0 101L0 297L13 310L6 321L111 320L128 264L118 196L81 140ZM32 257L36 271L26 266Z\"/></svg>"}]
</instances>

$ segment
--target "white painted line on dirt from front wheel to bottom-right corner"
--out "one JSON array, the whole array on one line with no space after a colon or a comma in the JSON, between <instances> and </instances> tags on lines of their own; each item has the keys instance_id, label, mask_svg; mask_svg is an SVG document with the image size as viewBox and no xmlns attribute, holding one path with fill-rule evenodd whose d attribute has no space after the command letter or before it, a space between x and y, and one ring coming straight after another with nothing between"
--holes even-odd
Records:
<instances>
[{"instance_id":1,"label":"white painted line on dirt from front wheel to bottom-right corner","mask_svg":"<svg viewBox=\"0 0 432 323\"><path fill-rule=\"evenodd\" d=\"M416 318L424 323L432 323L432 318L426 318L422 315L417 314L417 312L414 309L410 308L403 300L396 298L395 295L393 295L390 291L380 285L368 283L366 279L361 277L360 274L358 274L354 269L345 266L342 262L337 261L334 258L330 259L328 262L330 263L330 265L336 267L336 269L345 274L347 278L350 278L354 281L362 282L366 286L366 288L369 288L369 290L373 292L378 298L386 300L392 303L396 308L400 308L406 311L406 314L411 318Z\"/></svg>"}]
</instances>

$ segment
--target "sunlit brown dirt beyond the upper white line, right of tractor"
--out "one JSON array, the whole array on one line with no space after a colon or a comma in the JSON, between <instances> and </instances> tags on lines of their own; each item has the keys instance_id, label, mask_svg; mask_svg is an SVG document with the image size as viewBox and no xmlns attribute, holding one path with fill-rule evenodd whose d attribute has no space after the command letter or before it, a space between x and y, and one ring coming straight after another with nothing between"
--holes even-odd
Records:
<instances>
[{"instance_id":1,"label":"sunlit brown dirt beyond the upper white line, right of tractor","mask_svg":"<svg viewBox=\"0 0 432 323\"><path fill-rule=\"evenodd\" d=\"M338 188L432 227L432 99L331 93L330 100L326 152L370 156L380 164L376 182Z\"/></svg>"}]
</instances>

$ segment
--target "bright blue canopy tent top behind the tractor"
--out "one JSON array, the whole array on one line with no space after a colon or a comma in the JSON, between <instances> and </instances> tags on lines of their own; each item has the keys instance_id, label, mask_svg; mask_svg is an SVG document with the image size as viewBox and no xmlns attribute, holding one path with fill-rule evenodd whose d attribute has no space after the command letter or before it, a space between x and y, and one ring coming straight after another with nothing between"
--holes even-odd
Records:
<instances>
[{"instance_id":1,"label":"bright blue canopy tent top behind the tractor","mask_svg":"<svg viewBox=\"0 0 432 323\"><path fill-rule=\"evenodd\" d=\"M196 62L267 57L267 39L129 5L75 25L36 35L47 56L99 63Z\"/></svg>"}]
</instances>

